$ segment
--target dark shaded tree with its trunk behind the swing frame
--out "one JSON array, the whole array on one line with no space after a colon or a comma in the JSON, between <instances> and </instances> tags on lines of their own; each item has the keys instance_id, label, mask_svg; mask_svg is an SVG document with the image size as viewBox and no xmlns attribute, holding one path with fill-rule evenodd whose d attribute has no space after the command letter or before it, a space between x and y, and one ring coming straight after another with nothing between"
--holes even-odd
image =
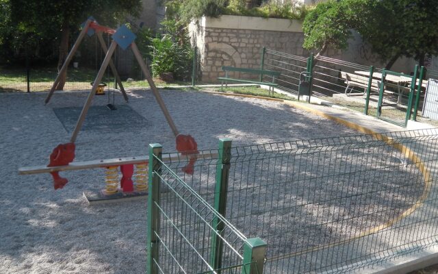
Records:
<instances>
[{"instance_id":1,"label":"dark shaded tree with its trunk behind the swing frame","mask_svg":"<svg viewBox=\"0 0 438 274\"><path fill-rule=\"evenodd\" d=\"M60 70L68 54L69 38L79 25L93 15L99 23L116 23L128 14L136 16L140 0L10 0L11 21L21 29L21 36L36 35L59 45L57 67ZM66 72L57 90L62 90Z\"/></svg>"}]
</instances>

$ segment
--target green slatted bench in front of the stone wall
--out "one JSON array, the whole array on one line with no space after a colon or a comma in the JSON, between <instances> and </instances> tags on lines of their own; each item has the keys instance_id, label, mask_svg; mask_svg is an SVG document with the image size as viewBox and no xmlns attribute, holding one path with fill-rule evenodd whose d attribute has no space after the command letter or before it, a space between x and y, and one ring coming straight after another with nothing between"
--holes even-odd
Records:
<instances>
[{"instance_id":1,"label":"green slatted bench in front of the stone wall","mask_svg":"<svg viewBox=\"0 0 438 274\"><path fill-rule=\"evenodd\" d=\"M226 87L227 87L228 82L240 82L240 83L247 83L247 84L266 85L266 86L269 86L269 91L270 91L271 88L272 88L272 90L274 90L274 87L279 85L279 84L275 83L275 77L279 77L279 75L281 75L281 73L276 72L276 71L267 71L267 70L262 70L262 69L236 68L234 66L222 66L222 71L225 71L225 77L218 77L218 80L220 80L222 83L221 88L224 86L224 82L225 82ZM259 75L259 78L262 78L263 75L268 75L268 76L272 77L272 82L263 82L263 81L249 80L249 79L231 78L228 75L229 71L255 74L255 75Z\"/></svg>"}]
</instances>

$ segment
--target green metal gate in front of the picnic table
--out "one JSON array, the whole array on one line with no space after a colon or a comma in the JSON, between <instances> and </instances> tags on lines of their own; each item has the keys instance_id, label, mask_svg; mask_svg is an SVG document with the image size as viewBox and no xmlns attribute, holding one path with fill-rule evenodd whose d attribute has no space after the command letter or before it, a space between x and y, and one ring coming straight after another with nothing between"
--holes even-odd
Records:
<instances>
[{"instance_id":1,"label":"green metal gate in front of the picnic table","mask_svg":"<svg viewBox=\"0 0 438 274\"><path fill-rule=\"evenodd\" d=\"M411 118L415 79L418 66L415 66L413 75L405 75L394 71L373 73L373 78L380 78L377 117L389 123L402 127L407 126Z\"/></svg>"}]
</instances>

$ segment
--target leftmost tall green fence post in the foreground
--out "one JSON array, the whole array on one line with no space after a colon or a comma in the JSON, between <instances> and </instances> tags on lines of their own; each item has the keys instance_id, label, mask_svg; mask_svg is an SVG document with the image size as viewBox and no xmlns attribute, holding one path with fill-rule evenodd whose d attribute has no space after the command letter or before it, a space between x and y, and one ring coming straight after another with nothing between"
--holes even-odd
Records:
<instances>
[{"instance_id":1,"label":"leftmost tall green fence post in the foreground","mask_svg":"<svg viewBox=\"0 0 438 274\"><path fill-rule=\"evenodd\" d=\"M147 273L157 274L159 269L155 262L159 262L159 245L155 232L159 232L160 216L155 203L159 204L159 174L161 173L162 145L149 145L149 199L148 199L148 262Z\"/></svg>"}]
</instances>

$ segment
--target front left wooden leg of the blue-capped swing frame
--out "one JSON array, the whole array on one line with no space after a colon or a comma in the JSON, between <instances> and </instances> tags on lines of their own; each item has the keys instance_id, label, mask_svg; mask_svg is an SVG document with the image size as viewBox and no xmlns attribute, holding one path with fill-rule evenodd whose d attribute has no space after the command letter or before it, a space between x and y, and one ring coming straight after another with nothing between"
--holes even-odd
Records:
<instances>
[{"instance_id":1,"label":"front left wooden leg of the blue-capped swing frame","mask_svg":"<svg viewBox=\"0 0 438 274\"><path fill-rule=\"evenodd\" d=\"M110 49L107 51L107 55L105 55L105 59L102 62L101 69L99 69L99 73L97 73L96 79L94 79L93 87L90 91L90 94L88 95L87 101L85 105L83 105L81 115L79 115L79 119L77 119L75 130L73 130L73 134L70 138L70 142L75 142L77 138L77 134L79 134L79 130L81 130L83 121L85 120L85 116L88 112L88 109L90 108L91 101L96 94L96 90L99 87L99 84L101 83L103 74L105 73L105 70L107 69L108 64L110 63L110 60L112 58L112 55L114 54L114 51L116 50L117 42L112 41Z\"/></svg>"}]
</instances>

